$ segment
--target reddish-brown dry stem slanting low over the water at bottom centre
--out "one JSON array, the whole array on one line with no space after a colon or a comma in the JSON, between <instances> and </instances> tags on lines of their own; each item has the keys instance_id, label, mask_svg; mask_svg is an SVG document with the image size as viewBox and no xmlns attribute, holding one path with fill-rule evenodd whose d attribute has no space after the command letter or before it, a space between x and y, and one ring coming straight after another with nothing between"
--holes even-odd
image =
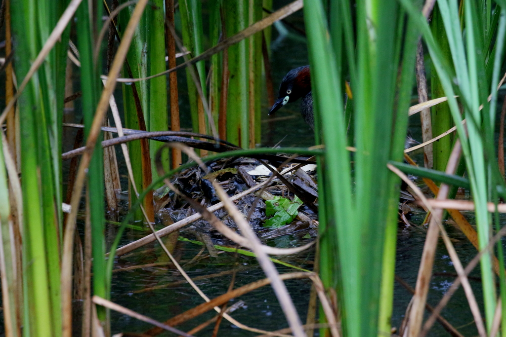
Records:
<instances>
[{"instance_id":1,"label":"reddish-brown dry stem slanting low over the water at bottom centre","mask_svg":"<svg viewBox=\"0 0 506 337\"><path fill-rule=\"evenodd\" d=\"M279 275L283 280L288 279L295 279L295 278L309 278L312 275L312 273L308 272L293 272L293 273L286 273ZM209 310L212 310L213 308L217 306L221 306L228 301L230 301L233 298L238 298L244 294L250 293L258 288L261 288L263 286L271 284L270 278L263 278L261 280L248 283L246 285L240 286L238 288L235 288L234 290L227 292L223 295L220 295L209 302L205 302L202 304L199 304L198 306L187 310L177 316L174 316L164 322L164 324L167 325L179 325L181 323L184 323L194 317L197 317ZM162 330L160 328L153 327L145 332L145 334L155 336L159 333L161 333Z\"/></svg>"}]
</instances>

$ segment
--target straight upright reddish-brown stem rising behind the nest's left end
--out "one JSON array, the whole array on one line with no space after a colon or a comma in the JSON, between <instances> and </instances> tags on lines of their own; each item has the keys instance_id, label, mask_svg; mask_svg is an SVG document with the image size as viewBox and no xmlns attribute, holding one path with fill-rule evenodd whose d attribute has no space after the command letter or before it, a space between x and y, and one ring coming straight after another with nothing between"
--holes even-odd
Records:
<instances>
[{"instance_id":1,"label":"straight upright reddish-brown stem rising behind the nest's left end","mask_svg":"<svg viewBox=\"0 0 506 337\"><path fill-rule=\"evenodd\" d=\"M174 0L165 0L165 45L167 46L168 69L176 67L176 41L167 25L174 27ZM179 131L179 99L178 99L178 74L168 74L168 84L171 98L171 131ZM182 163L181 151L172 150L172 168L177 168Z\"/></svg>"}]
</instances>

